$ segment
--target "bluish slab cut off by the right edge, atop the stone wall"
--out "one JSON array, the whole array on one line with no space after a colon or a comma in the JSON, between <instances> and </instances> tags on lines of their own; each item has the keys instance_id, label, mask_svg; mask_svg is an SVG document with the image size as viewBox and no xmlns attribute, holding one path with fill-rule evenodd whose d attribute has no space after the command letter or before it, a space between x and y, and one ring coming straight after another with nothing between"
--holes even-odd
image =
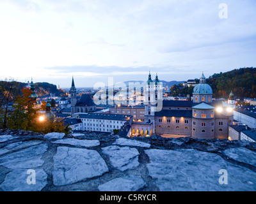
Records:
<instances>
[{"instance_id":1,"label":"bluish slab cut off by the right edge, atop the stone wall","mask_svg":"<svg viewBox=\"0 0 256 204\"><path fill-rule=\"evenodd\" d=\"M256 153L252 150L248 150L244 147L239 147L226 149L223 151L223 153L236 161L256 166Z\"/></svg>"}]
</instances>

